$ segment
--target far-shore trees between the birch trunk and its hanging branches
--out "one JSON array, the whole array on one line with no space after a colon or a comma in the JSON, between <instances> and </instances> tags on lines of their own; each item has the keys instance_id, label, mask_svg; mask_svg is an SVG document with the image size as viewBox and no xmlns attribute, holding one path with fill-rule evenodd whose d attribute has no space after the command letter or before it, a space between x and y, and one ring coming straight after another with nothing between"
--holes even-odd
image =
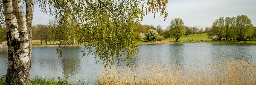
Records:
<instances>
[{"instance_id":1,"label":"far-shore trees between the birch trunk and its hanging branches","mask_svg":"<svg viewBox=\"0 0 256 85\"><path fill-rule=\"evenodd\" d=\"M45 44L47 42L50 42L52 44L57 43L63 43L63 42L75 42L76 38L76 33L75 31L77 30L74 27L71 27L72 23L66 23L67 28L61 28L58 25L56 25L54 22L51 22L49 20L48 25L34 25L32 26L32 40L41 40L41 44L43 41Z\"/></svg>"}]
</instances>

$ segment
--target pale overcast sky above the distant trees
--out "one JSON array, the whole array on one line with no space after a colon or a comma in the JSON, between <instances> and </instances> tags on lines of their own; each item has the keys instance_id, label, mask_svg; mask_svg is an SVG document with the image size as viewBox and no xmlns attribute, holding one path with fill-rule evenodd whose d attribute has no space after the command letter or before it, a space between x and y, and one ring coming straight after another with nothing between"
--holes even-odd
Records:
<instances>
[{"instance_id":1,"label":"pale overcast sky above the distant trees","mask_svg":"<svg viewBox=\"0 0 256 85\"><path fill-rule=\"evenodd\" d=\"M167 4L168 16L150 13L145 15L141 24L161 25L163 29L169 26L174 18L181 18L185 26L205 28L212 26L214 20L220 17L236 17L247 15L256 26L256 0L169 0ZM47 24L52 17L41 12L35 5L33 24Z\"/></svg>"}]
</instances>

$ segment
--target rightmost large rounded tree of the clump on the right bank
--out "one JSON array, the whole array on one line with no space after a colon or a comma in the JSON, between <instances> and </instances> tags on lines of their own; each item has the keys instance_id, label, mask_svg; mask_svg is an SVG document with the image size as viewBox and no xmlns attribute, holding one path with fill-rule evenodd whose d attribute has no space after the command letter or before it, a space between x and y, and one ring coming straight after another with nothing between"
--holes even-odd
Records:
<instances>
[{"instance_id":1,"label":"rightmost large rounded tree of the clump on the right bank","mask_svg":"<svg viewBox=\"0 0 256 85\"><path fill-rule=\"evenodd\" d=\"M250 29L252 28L251 20L246 15L239 15L236 17L235 34L238 41L245 39Z\"/></svg>"}]
</instances>

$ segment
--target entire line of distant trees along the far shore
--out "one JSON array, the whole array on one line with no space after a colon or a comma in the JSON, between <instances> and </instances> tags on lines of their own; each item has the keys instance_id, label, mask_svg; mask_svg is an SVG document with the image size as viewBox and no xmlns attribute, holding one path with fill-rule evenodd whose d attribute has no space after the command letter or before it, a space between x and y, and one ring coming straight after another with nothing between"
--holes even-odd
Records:
<instances>
[{"instance_id":1,"label":"entire line of distant trees along the far shore","mask_svg":"<svg viewBox=\"0 0 256 85\"><path fill-rule=\"evenodd\" d=\"M176 23L178 23L176 25ZM54 20L49 21L48 25L34 25L32 28L32 40L41 40L41 43L60 43L60 42L75 42L86 38L86 34L81 33L79 24L76 22L67 22L58 24ZM80 27L81 28L81 27ZM251 23L250 18L246 15L239 15L237 17L220 17L216 19L211 27L196 28L184 26L182 19L174 18L168 27L163 30L162 26L157 25L141 25L137 23L135 29L136 34L134 38L137 41L147 41L147 31L153 29L157 31L157 41L165 39L179 39L182 36L191 34L207 33L209 38L213 40L256 40L256 27ZM86 30L87 31L87 30ZM6 41L5 27L0 26L0 42ZM58 41L58 42L57 42Z\"/></svg>"}]
</instances>

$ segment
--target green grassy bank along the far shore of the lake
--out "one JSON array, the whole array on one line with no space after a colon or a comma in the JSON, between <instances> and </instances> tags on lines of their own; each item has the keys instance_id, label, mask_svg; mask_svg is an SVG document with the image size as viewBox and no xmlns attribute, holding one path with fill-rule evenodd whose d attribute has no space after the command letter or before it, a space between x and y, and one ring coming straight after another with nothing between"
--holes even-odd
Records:
<instances>
[{"instance_id":1,"label":"green grassy bank along the far shore of the lake","mask_svg":"<svg viewBox=\"0 0 256 85\"><path fill-rule=\"evenodd\" d=\"M189 42L191 40L191 42ZM166 39L163 41L156 41L156 42L146 42L146 41L137 41L137 45L151 45L151 44L175 44L175 43L214 43L214 44L244 44L243 42L246 42L246 45L256 45L256 41L212 41L212 39L209 39L207 37L207 34L192 34L188 36L183 36L181 37L178 42L175 42L175 39ZM1 42L5 44L6 42ZM52 44L52 42L48 42L51 44L41 44L40 40L33 40L32 41L32 46L33 47L54 47L54 46L59 46L58 44ZM56 43L56 42L54 42ZM74 45L61 45L61 46L79 46L78 44ZM7 46L1 46L0 48L7 48Z\"/></svg>"}]
</instances>

